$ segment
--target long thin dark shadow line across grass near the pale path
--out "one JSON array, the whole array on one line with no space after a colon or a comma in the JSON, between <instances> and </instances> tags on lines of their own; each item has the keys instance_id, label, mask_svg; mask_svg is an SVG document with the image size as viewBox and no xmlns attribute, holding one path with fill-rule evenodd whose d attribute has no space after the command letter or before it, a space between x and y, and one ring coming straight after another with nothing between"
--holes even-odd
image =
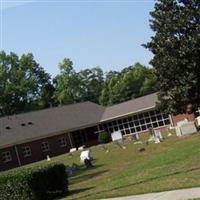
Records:
<instances>
[{"instance_id":1,"label":"long thin dark shadow line across grass near the pale path","mask_svg":"<svg viewBox=\"0 0 200 200\"><path fill-rule=\"evenodd\" d=\"M179 175L179 174L185 174L185 173L196 171L196 170L200 170L200 167L191 168L191 169L183 170L183 171L176 171L176 172L173 172L173 173L169 173L169 174L165 174L165 175L161 175L161 176L148 178L146 180L138 181L138 182L135 182L135 183L132 183L132 184L126 184L126 185L123 185L123 186L114 187L114 188L110 188L110 189L107 189L107 190L102 190L102 191L99 191L99 192L95 192L95 195L104 194L105 192L111 192L111 191L114 191L114 190L119 190L119 189L123 189L123 188L126 188L126 187L135 186L135 185L138 185L138 184L148 183L148 182L151 182L151 181L163 178L163 177ZM84 195L84 196L80 196L79 198L86 198L86 197L90 197L92 195L94 195L94 194L90 193L90 194L87 194L87 195ZM78 198L75 198L75 199L78 199Z\"/></svg>"}]
</instances>

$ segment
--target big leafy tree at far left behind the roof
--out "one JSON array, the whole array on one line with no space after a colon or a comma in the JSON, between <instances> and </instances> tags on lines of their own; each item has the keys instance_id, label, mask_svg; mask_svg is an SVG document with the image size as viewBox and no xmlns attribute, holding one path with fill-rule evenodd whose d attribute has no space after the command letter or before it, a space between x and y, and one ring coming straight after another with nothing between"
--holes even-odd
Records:
<instances>
[{"instance_id":1,"label":"big leafy tree at far left behind the roof","mask_svg":"<svg viewBox=\"0 0 200 200\"><path fill-rule=\"evenodd\" d=\"M0 52L1 115L37 109L37 99L50 84L50 76L34 60L32 54Z\"/></svg>"}]
</instances>

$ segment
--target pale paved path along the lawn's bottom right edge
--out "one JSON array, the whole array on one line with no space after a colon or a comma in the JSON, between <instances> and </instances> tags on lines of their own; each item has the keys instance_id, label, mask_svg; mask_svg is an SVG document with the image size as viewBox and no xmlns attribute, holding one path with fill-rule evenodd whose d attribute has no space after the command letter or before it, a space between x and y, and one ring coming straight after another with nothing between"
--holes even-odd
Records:
<instances>
[{"instance_id":1,"label":"pale paved path along the lawn's bottom right edge","mask_svg":"<svg viewBox=\"0 0 200 200\"><path fill-rule=\"evenodd\" d=\"M166 192L148 193L128 197L117 197L106 200L188 200L200 198L200 187L172 190Z\"/></svg>"}]
</instances>

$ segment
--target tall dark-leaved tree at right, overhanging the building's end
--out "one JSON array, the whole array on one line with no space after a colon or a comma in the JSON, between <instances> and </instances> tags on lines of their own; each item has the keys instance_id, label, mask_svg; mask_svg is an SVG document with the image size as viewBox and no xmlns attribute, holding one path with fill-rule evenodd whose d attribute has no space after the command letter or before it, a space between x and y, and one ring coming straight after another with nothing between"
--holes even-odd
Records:
<instances>
[{"instance_id":1,"label":"tall dark-leaved tree at right, overhanging the building's end","mask_svg":"<svg viewBox=\"0 0 200 200\"><path fill-rule=\"evenodd\" d=\"M159 108L185 112L200 105L200 1L158 0L150 13L155 35L144 45L159 83Z\"/></svg>"}]
</instances>

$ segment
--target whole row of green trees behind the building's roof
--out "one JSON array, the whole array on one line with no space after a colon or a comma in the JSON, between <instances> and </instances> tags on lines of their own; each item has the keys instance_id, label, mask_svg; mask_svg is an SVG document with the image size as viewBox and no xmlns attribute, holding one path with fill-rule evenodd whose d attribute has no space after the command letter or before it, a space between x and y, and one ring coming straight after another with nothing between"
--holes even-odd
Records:
<instances>
[{"instance_id":1,"label":"whole row of green trees behind the building's roof","mask_svg":"<svg viewBox=\"0 0 200 200\"><path fill-rule=\"evenodd\" d=\"M157 90L154 69L139 63L106 76L100 67L76 72L68 58L59 68L51 80L32 54L0 52L0 115L83 101L113 105Z\"/></svg>"}]
</instances>

